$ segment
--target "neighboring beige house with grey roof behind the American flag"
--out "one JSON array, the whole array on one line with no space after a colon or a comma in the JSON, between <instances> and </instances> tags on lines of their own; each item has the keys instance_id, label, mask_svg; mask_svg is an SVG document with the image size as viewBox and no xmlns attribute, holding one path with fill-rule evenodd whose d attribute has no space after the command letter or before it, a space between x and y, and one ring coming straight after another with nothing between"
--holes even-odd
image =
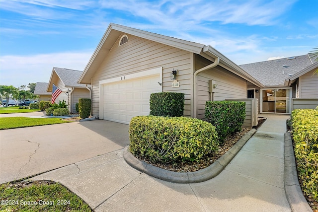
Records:
<instances>
[{"instance_id":1,"label":"neighboring beige house with grey roof behind the American flag","mask_svg":"<svg viewBox=\"0 0 318 212\"><path fill-rule=\"evenodd\" d=\"M47 87L47 92L51 95L53 83L63 91L55 103L65 100L71 113L76 113L75 105L79 103L79 98L90 98L90 86L77 82L81 74L82 71L54 67Z\"/></svg>"}]
</instances>

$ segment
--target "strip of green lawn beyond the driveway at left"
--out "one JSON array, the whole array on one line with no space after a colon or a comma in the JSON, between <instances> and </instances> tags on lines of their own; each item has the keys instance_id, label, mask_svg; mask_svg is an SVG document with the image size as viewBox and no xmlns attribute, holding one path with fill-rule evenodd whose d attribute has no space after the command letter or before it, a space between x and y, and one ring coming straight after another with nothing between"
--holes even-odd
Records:
<instances>
[{"instance_id":1,"label":"strip of green lawn beyond the driveway at left","mask_svg":"<svg viewBox=\"0 0 318 212\"><path fill-rule=\"evenodd\" d=\"M62 121L60 118L3 117L0 118L0 130L40 125L53 125L67 122L70 121Z\"/></svg>"}]
</instances>

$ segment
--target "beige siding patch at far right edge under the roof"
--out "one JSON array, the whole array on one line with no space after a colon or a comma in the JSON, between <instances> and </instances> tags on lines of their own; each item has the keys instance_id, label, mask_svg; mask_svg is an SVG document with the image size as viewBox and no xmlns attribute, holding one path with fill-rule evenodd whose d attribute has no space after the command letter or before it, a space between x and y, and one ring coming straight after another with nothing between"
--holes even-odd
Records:
<instances>
[{"instance_id":1,"label":"beige siding patch at far right edge under the roof","mask_svg":"<svg viewBox=\"0 0 318 212\"><path fill-rule=\"evenodd\" d=\"M318 98L318 74L314 70L299 77L299 97Z\"/></svg>"}]
</instances>

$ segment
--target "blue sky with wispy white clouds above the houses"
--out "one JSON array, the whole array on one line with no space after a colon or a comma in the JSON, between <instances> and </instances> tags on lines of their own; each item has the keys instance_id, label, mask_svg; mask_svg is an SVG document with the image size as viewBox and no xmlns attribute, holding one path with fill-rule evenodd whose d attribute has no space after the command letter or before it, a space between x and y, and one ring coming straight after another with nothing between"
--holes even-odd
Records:
<instances>
[{"instance_id":1,"label":"blue sky with wispy white clouds above the houses","mask_svg":"<svg viewBox=\"0 0 318 212\"><path fill-rule=\"evenodd\" d=\"M0 0L0 84L83 71L109 23L211 45L238 65L318 47L318 0Z\"/></svg>"}]
</instances>

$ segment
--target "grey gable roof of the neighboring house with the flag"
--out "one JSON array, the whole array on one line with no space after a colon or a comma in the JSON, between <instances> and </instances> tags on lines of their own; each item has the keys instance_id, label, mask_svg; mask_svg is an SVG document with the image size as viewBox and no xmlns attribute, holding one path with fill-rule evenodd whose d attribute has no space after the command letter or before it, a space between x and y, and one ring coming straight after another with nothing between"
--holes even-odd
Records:
<instances>
[{"instance_id":1,"label":"grey gable roof of the neighboring house with the flag","mask_svg":"<svg viewBox=\"0 0 318 212\"><path fill-rule=\"evenodd\" d=\"M79 76L82 72L83 71L53 67L47 91L52 91L52 83L56 81L57 77L61 79L65 87L85 88L85 84L78 83Z\"/></svg>"}]
</instances>

